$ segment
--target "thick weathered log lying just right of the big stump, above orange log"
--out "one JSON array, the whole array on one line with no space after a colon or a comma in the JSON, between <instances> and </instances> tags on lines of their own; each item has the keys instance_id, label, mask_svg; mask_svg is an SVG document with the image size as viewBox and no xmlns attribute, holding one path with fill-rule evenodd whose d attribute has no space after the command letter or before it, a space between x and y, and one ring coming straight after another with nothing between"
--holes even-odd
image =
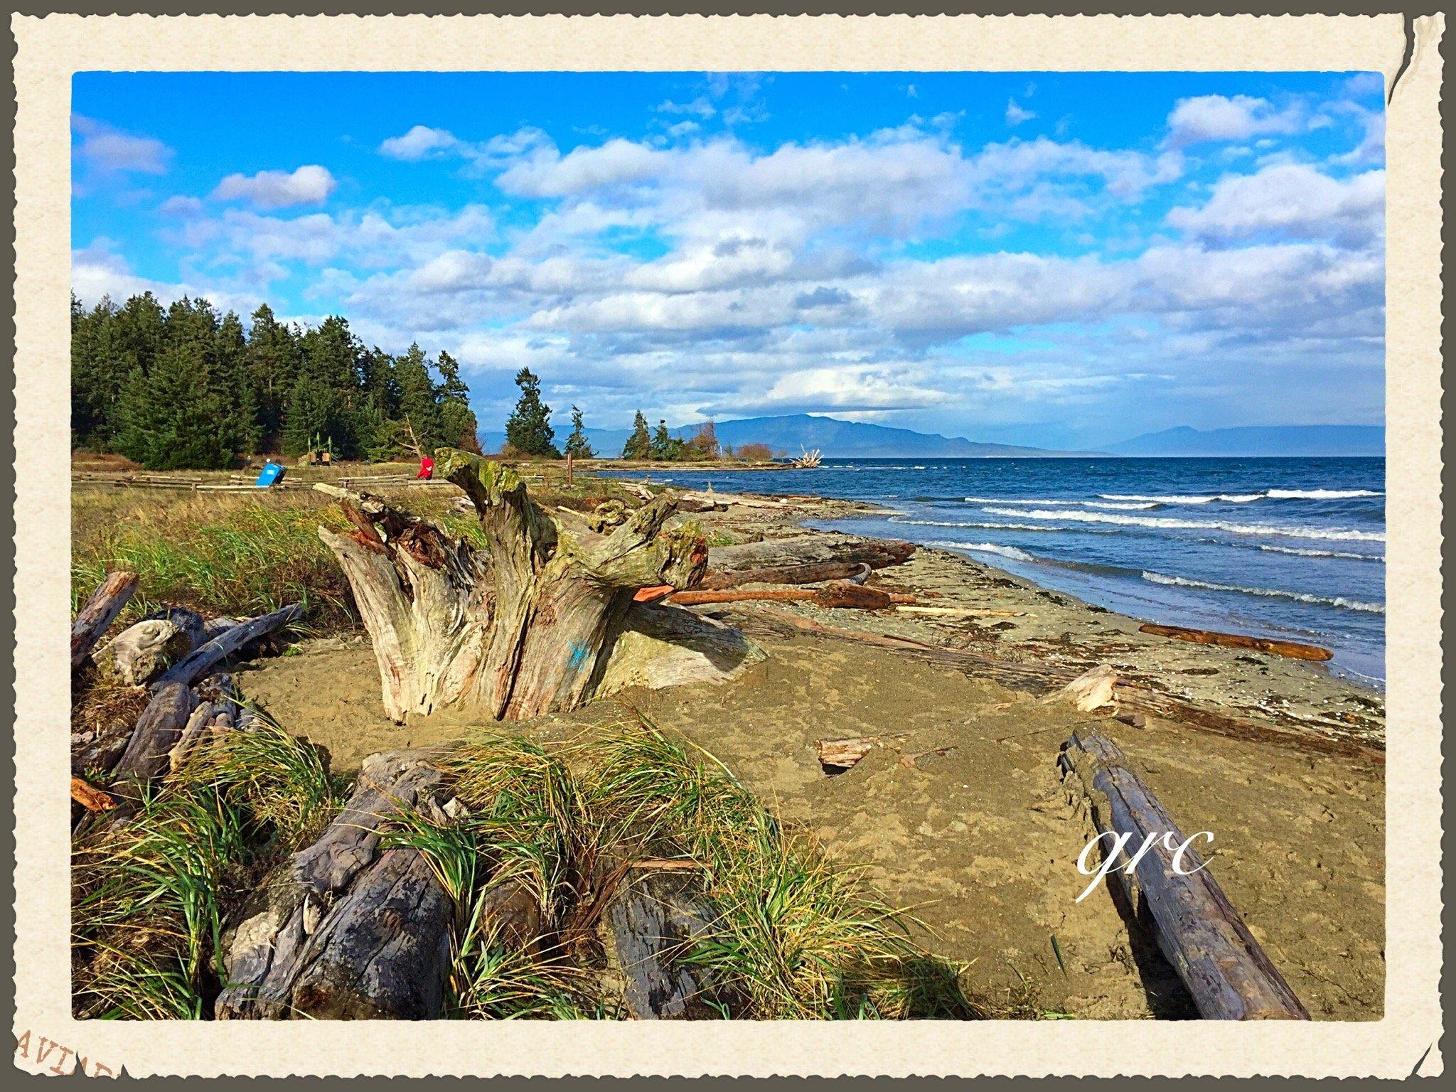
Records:
<instances>
[{"instance_id":1,"label":"thick weathered log lying just right of the big stump, above orange log","mask_svg":"<svg viewBox=\"0 0 1456 1092\"><path fill-rule=\"evenodd\" d=\"M855 536L795 534L708 552L705 590L741 584L817 584L856 577L860 565L882 569L914 553L914 543Z\"/></svg>"}]
</instances>

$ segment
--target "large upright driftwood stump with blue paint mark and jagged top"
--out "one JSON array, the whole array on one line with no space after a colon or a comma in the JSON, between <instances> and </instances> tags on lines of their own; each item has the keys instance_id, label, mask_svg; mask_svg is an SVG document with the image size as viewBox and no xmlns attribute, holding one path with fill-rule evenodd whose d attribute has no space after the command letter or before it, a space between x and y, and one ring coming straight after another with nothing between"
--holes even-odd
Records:
<instances>
[{"instance_id":1,"label":"large upright driftwood stump with blue paint mark and jagged top","mask_svg":"<svg viewBox=\"0 0 1456 1092\"><path fill-rule=\"evenodd\" d=\"M577 513L545 511L510 466L441 448L435 475L464 489L485 549L379 498L325 489L354 530L319 537L354 588L397 722L446 708L514 721L585 703L633 593L686 588L708 563L695 529L665 529L671 496L597 531Z\"/></svg>"}]
</instances>

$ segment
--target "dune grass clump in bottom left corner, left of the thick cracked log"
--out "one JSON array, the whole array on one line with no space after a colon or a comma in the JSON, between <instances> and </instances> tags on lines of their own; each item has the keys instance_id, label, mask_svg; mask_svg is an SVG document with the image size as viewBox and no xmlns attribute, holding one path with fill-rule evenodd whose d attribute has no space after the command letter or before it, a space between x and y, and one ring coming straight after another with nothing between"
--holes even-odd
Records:
<instances>
[{"instance_id":1,"label":"dune grass clump in bottom left corner, left of the thick cracked log","mask_svg":"<svg viewBox=\"0 0 1456 1092\"><path fill-rule=\"evenodd\" d=\"M221 734L121 830L73 847L73 1005L83 1018L207 1019L229 910L333 814L313 748L261 721Z\"/></svg>"}]
</instances>

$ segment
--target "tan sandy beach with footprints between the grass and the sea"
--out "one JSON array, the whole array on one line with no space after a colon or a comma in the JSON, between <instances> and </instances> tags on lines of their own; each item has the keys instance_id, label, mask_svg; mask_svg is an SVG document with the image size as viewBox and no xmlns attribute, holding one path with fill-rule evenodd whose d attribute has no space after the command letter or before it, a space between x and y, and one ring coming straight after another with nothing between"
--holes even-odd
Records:
<instances>
[{"instance_id":1,"label":"tan sandy beach with footprints between the grass and the sea","mask_svg":"<svg viewBox=\"0 0 1456 1092\"><path fill-rule=\"evenodd\" d=\"M690 518L724 545L826 534L804 521L865 510L750 498ZM971 961L970 984L1000 1003L1035 997L1041 1012L1075 1018L1188 1016L1147 932L1105 891L1075 901L1088 882L1075 862L1092 828L1069 802L1056 757L1073 728L1096 718L1042 696L1056 680L1109 664L1131 689L1190 711L1142 728L1109 718L1098 727L1185 833L1214 833L1211 871L1310 1013L1380 1018L1379 692L1302 661L1143 635L1140 620L946 550L919 549L869 584L942 613L699 607L741 628L766 660L725 684L633 689L523 729L568 740L642 713L680 732L833 856L866 865L866 879L920 922L919 939ZM946 613L965 610L994 613ZM475 727L387 721L364 636L303 642L243 670L239 683L288 731L328 748L338 772ZM849 735L877 737L877 747L852 770L826 775L815 741Z\"/></svg>"}]
</instances>

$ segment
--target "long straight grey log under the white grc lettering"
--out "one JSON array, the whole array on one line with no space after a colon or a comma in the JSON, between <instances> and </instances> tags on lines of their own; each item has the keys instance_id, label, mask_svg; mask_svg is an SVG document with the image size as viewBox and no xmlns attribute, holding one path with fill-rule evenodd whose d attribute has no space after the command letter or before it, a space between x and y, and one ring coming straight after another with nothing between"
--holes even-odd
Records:
<instances>
[{"instance_id":1,"label":"long straight grey log under the white grc lettering","mask_svg":"<svg viewBox=\"0 0 1456 1092\"><path fill-rule=\"evenodd\" d=\"M1128 903L1152 919L1158 946L1198 1006L1204 1019L1309 1019L1309 1012L1265 955L1239 911L1190 846L1176 871L1175 849L1182 831L1158 798L1127 767L1127 759L1105 735L1079 729L1061 748L1066 778L1076 778L1091 802L1099 834L1130 836L1140 849L1153 847L1133 875L1118 868L1109 875L1123 885ZM1165 836L1169 836L1165 843ZM1123 855L1123 860L1130 855Z\"/></svg>"}]
</instances>

